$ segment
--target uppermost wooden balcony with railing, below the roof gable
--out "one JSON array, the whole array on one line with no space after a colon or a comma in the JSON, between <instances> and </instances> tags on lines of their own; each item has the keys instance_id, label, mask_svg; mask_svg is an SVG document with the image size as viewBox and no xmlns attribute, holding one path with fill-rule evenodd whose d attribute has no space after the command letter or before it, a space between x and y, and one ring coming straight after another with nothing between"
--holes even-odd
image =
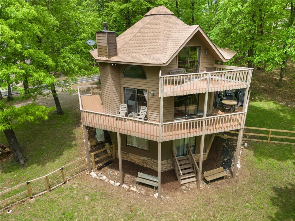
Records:
<instances>
[{"instance_id":1,"label":"uppermost wooden balcony with railing, below the roof gable","mask_svg":"<svg viewBox=\"0 0 295 221\"><path fill-rule=\"evenodd\" d=\"M214 65L215 71L160 76L160 97L247 88L253 68ZM210 79L208 81L208 79ZM250 85L249 85L250 86Z\"/></svg>"}]
</instances>

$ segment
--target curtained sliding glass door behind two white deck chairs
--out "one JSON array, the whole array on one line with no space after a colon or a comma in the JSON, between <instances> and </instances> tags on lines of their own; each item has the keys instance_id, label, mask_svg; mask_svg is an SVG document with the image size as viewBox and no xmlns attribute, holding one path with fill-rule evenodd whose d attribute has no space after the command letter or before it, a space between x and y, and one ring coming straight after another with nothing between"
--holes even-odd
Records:
<instances>
[{"instance_id":1,"label":"curtained sliding glass door behind two white deck chairs","mask_svg":"<svg viewBox=\"0 0 295 221\"><path fill-rule=\"evenodd\" d=\"M127 104L128 113L138 113L141 106L148 106L147 90L124 88L124 102Z\"/></svg>"}]
</instances>

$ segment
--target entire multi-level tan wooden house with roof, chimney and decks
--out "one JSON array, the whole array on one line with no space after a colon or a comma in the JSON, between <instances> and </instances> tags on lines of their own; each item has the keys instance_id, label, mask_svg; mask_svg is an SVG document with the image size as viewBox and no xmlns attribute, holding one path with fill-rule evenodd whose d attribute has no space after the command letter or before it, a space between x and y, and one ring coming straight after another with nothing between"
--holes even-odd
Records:
<instances>
[{"instance_id":1,"label":"entire multi-level tan wooden house with roof, chimney and decks","mask_svg":"<svg viewBox=\"0 0 295 221\"><path fill-rule=\"evenodd\" d=\"M126 159L158 170L159 194L161 171L168 169L181 184L197 181L200 187L202 161L217 132L240 129L240 152L252 68L222 65L236 52L217 47L200 26L186 25L164 6L118 37L104 27L96 43L90 53L99 62L101 85L90 95L79 92L82 123L85 136L85 126L109 131L121 183ZM237 89L245 89L243 106L222 106L220 95ZM116 115L121 104L128 115ZM147 116L134 118L142 106Z\"/></svg>"}]
</instances>

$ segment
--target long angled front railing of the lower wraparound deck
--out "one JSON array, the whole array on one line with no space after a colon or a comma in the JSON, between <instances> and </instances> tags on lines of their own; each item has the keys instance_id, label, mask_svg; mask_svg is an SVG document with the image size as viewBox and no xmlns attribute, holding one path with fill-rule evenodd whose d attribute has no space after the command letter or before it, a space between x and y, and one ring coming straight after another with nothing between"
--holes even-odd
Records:
<instances>
[{"instance_id":1,"label":"long angled front railing of the lower wraparound deck","mask_svg":"<svg viewBox=\"0 0 295 221\"><path fill-rule=\"evenodd\" d=\"M83 109L81 110L81 117L85 126L162 142L240 129L243 125L245 112L167 123L142 121ZM205 126L203 127L204 123Z\"/></svg>"}]
</instances>

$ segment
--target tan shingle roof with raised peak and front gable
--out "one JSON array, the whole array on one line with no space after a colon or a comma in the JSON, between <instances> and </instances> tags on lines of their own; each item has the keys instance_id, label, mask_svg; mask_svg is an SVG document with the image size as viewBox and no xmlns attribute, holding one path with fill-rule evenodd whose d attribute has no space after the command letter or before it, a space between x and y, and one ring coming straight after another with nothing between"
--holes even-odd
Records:
<instances>
[{"instance_id":1,"label":"tan shingle roof with raised peak and front gable","mask_svg":"<svg viewBox=\"0 0 295 221\"><path fill-rule=\"evenodd\" d=\"M102 62L165 65L197 30L203 32L198 25L186 25L165 6L159 6L117 37L116 56L98 57L97 50L90 53ZM215 45L212 43L212 46L214 48ZM214 50L221 56L226 55L222 59L224 61L235 55L235 52L226 49L215 47Z\"/></svg>"}]
</instances>

